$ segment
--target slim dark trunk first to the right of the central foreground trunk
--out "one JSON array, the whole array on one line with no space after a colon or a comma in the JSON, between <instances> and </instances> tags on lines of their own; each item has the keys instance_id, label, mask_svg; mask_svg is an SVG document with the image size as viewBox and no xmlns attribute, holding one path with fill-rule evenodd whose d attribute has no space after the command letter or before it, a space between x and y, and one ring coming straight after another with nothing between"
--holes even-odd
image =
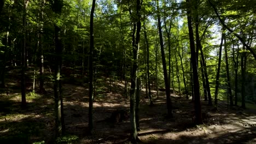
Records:
<instances>
[{"instance_id":1,"label":"slim dark trunk first to the right of the central foreground trunk","mask_svg":"<svg viewBox=\"0 0 256 144\"><path fill-rule=\"evenodd\" d=\"M148 77L148 97L150 100L150 105L154 105L153 104L153 100L152 100L152 95L151 95L151 89L150 89L150 75L149 75L149 44L148 44L148 39L147 39L147 29L145 26L145 22L143 22L143 27L144 27L144 37L146 40L146 45L147 45L147 77Z\"/></svg>"}]
</instances>

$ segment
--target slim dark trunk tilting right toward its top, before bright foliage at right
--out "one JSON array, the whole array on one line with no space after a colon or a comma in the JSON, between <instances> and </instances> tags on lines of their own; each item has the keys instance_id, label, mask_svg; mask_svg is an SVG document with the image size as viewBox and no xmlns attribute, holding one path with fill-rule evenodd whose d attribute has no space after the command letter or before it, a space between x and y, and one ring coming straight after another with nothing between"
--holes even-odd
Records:
<instances>
[{"instance_id":1,"label":"slim dark trunk tilting right toward its top, before bright foliage at right","mask_svg":"<svg viewBox=\"0 0 256 144\"><path fill-rule=\"evenodd\" d=\"M218 107L218 89L219 89L219 73L220 73L220 64L222 63L222 45L223 45L223 38L224 33L222 33L222 40L219 46L219 61L218 61L218 68L217 68L217 75L216 75L216 86L215 86L215 95L214 95L214 106Z\"/></svg>"}]
</instances>

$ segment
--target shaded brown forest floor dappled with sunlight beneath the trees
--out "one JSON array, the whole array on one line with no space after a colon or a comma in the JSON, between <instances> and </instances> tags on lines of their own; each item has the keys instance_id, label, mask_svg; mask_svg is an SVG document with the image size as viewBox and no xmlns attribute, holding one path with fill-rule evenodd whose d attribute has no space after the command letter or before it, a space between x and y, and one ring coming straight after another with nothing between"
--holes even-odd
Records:
<instances>
[{"instance_id":1,"label":"shaded brown forest floor dappled with sunlight beneath the trees","mask_svg":"<svg viewBox=\"0 0 256 144\"><path fill-rule=\"evenodd\" d=\"M53 143L53 82L45 82L44 94L28 90L27 107L21 109L17 74L14 71L8 73L7 88L0 94L0 143ZM108 79L99 79L94 101L93 135L87 133L88 85L63 81L62 87L68 135L59 143L129 143L129 119L114 125L98 122L110 117L115 110L129 110L123 82L112 85L109 92ZM158 99L156 91L152 93L154 106L149 106L149 100L144 98L144 89L141 91L141 131L138 131L138 136L143 143L256 143L256 109L229 107L226 101L219 101L218 111L213 111L207 101L201 101L202 112L206 116L204 124L194 125L191 100L172 94L174 118L166 119L165 93L159 92Z\"/></svg>"}]
</instances>

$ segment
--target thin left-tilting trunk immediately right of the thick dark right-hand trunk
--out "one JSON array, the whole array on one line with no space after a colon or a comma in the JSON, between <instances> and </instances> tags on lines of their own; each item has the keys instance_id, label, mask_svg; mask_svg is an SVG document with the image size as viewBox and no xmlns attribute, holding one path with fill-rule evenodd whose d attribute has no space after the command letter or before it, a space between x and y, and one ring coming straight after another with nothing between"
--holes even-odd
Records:
<instances>
[{"instance_id":1,"label":"thin left-tilting trunk immediately right of the thick dark right-hand trunk","mask_svg":"<svg viewBox=\"0 0 256 144\"><path fill-rule=\"evenodd\" d=\"M206 91L207 91L207 96L208 96L208 105L212 105L210 83L209 83L208 74L207 74L205 56L203 55L203 50L202 50L201 44L200 44L200 53L201 53L201 58L202 58L203 73L205 75L205 85L206 85Z\"/></svg>"}]
</instances>

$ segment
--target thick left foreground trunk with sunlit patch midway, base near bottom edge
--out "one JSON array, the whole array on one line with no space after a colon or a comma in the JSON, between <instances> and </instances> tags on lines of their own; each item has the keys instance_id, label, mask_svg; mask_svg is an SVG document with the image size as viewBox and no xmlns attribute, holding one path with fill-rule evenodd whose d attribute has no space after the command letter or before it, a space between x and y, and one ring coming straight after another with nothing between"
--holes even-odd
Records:
<instances>
[{"instance_id":1,"label":"thick left foreground trunk with sunlit patch midway, base near bottom edge","mask_svg":"<svg viewBox=\"0 0 256 144\"><path fill-rule=\"evenodd\" d=\"M55 1L53 3L53 11L57 15L61 15L63 1ZM65 122L63 114L63 100L61 95L61 67L62 67L62 43L61 28L54 25L55 29L55 81L54 81L54 98L55 98L55 136L65 134Z\"/></svg>"}]
</instances>

